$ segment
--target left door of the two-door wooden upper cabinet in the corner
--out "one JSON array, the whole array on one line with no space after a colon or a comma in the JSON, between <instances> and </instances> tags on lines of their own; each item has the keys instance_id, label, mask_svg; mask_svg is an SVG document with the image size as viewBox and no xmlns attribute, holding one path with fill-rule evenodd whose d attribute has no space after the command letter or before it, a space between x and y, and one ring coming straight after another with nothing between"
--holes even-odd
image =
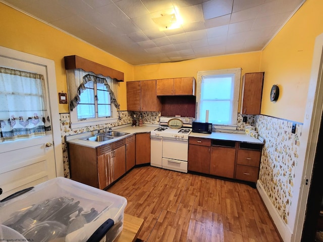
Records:
<instances>
[{"instance_id":1,"label":"left door of the two-door wooden upper cabinet in the corner","mask_svg":"<svg viewBox=\"0 0 323 242\"><path fill-rule=\"evenodd\" d=\"M127 109L140 111L140 81L127 82Z\"/></svg>"}]
</instances>

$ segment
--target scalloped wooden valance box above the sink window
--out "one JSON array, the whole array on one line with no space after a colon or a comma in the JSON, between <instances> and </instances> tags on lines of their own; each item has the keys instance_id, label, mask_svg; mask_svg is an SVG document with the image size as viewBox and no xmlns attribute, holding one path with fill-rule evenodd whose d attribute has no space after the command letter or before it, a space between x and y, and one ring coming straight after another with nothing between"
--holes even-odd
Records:
<instances>
[{"instance_id":1,"label":"scalloped wooden valance box above the sink window","mask_svg":"<svg viewBox=\"0 0 323 242\"><path fill-rule=\"evenodd\" d=\"M101 74L105 77L111 77L117 79L118 82L124 81L124 73L112 69L110 67L103 66L101 64L89 61L77 55L69 55L64 57L65 69L82 69L86 72L93 72L95 74Z\"/></svg>"}]
</instances>

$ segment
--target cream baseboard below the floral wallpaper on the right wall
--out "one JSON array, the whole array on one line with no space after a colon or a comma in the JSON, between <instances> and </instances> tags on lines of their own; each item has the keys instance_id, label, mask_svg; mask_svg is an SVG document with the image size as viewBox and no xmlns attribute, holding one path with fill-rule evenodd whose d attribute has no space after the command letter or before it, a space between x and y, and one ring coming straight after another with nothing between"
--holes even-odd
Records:
<instances>
[{"instance_id":1,"label":"cream baseboard below the floral wallpaper on the right wall","mask_svg":"<svg viewBox=\"0 0 323 242\"><path fill-rule=\"evenodd\" d=\"M258 191L264 205L266 206L267 211L269 212L270 216L272 217L272 220L273 220L278 232L280 233L283 241L290 242L292 239L293 233L290 230L290 228L287 226L287 224L284 222L284 220L278 214L276 208L274 207L274 205L271 202L268 195L265 193L263 186L259 180L257 181L256 187L257 187L257 191Z\"/></svg>"}]
</instances>

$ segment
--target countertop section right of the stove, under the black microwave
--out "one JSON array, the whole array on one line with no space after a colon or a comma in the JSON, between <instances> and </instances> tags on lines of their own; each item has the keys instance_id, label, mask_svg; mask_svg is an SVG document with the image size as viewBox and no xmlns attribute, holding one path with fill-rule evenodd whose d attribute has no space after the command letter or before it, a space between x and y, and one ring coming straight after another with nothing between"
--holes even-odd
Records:
<instances>
[{"instance_id":1,"label":"countertop section right of the stove, under the black microwave","mask_svg":"<svg viewBox=\"0 0 323 242\"><path fill-rule=\"evenodd\" d=\"M200 133L191 133L189 137L197 137L197 138L208 138L213 140L230 140L230 141L238 141L238 142L247 142L254 144L263 144L263 140L261 137L255 139L253 137L247 136L244 133L224 133L224 132L212 132L211 134L200 134Z\"/></svg>"}]
</instances>

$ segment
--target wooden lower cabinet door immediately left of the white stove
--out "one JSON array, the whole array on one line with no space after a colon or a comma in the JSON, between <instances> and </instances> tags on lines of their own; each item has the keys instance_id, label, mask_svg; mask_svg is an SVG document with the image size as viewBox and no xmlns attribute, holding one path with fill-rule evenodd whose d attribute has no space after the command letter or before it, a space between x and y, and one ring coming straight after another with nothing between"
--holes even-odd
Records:
<instances>
[{"instance_id":1,"label":"wooden lower cabinet door immediately left of the white stove","mask_svg":"<svg viewBox=\"0 0 323 242\"><path fill-rule=\"evenodd\" d=\"M136 165L150 163L150 133L136 134Z\"/></svg>"}]
</instances>

